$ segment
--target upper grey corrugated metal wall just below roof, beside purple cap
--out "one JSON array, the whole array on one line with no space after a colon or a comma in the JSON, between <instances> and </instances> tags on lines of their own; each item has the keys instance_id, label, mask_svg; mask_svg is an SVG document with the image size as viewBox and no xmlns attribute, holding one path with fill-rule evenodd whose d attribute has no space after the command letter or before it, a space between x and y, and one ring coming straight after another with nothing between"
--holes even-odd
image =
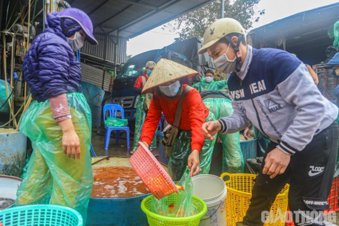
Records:
<instances>
[{"instance_id":1,"label":"upper grey corrugated metal wall just below roof, beside purple cap","mask_svg":"<svg viewBox=\"0 0 339 226\"><path fill-rule=\"evenodd\" d=\"M126 45L127 39L123 37L119 37L114 35L106 35L106 34L95 34L96 39L99 42L98 46L92 46L88 42L85 42L81 52L97 56L103 60L114 62L114 49L115 45L117 44L117 63L125 63L126 59Z\"/></svg>"}]
</instances>

